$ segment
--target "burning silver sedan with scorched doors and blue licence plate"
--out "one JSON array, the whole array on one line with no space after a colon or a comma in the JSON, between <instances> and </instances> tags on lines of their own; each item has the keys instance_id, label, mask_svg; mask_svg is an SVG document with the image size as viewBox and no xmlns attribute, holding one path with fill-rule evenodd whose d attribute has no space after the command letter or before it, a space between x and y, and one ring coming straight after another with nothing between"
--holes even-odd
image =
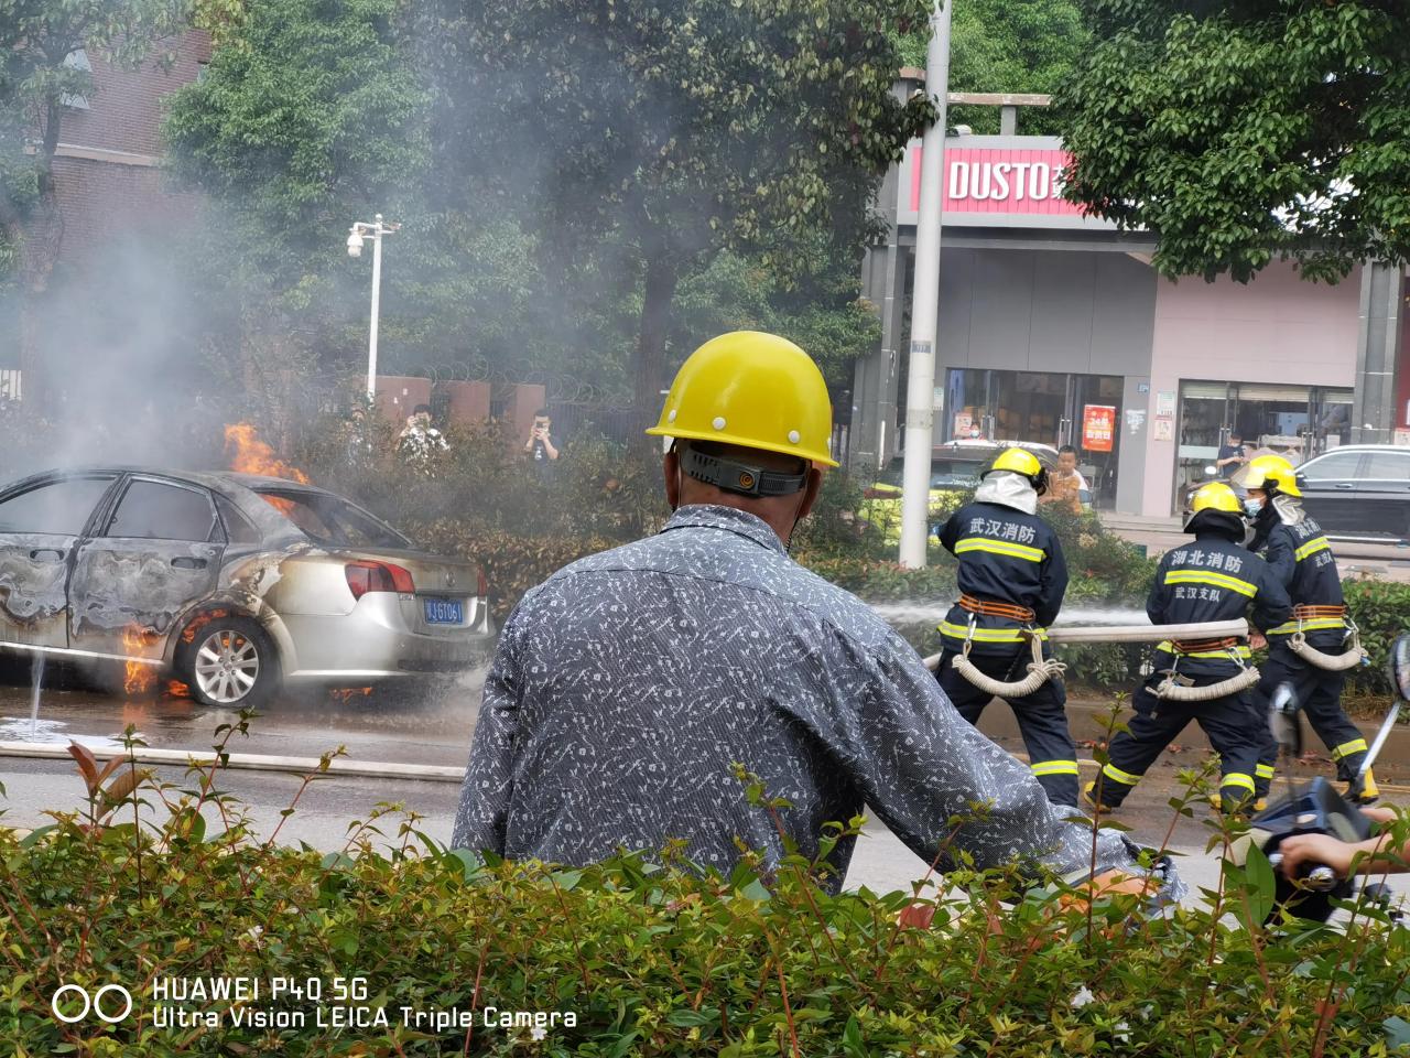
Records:
<instances>
[{"instance_id":1,"label":"burning silver sedan with scorched doors and blue licence plate","mask_svg":"<svg viewBox=\"0 0 1410 1058\"><path fill-rule=\"evenodd\" d=\"M474 563L285 478L90 467L0 490L0 649L158 666L207 705L470 667L486 595Z\"/></svg>"}]
</instances>

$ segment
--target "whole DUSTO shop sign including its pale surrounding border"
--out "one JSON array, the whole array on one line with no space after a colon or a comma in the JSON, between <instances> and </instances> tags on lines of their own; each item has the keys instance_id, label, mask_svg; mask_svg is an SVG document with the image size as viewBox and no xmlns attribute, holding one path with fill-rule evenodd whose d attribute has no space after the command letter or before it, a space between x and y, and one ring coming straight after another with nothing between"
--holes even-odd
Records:
<instances>
[{"instance_id":1,"label":"whole DUSTO shop sign including its pale surrounding border","mask_svg":"<svg viewBox=\"0 0 1410 1058\"><path fill-rule=\"evenodd\" d=\"M1062 196L1069 155L1048 137L959 137L979 141L945 148L943 206L946 224L1007 227L1108 227L1081 214ZM1026 142L1025 142L1026 141ZM1034 144L1034 145L1026 145ZM907 148L900 221L915 223L921 209L921 145Z\"/></svg>"}]
</instances>

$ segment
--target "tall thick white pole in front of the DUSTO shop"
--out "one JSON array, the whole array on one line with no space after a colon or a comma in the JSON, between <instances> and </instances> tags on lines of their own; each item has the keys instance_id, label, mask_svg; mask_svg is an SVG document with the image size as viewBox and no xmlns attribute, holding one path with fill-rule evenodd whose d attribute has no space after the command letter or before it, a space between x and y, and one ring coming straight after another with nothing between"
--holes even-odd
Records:
<instances>
[{"instance_id":1,"label":"tall thick white pole in front of the DUSTO shop","mask_svg":"<svg viewBox=\"0 0 1410 1058\"><path fill-rule=\"evenodd\" d=\"M901 474L901 564L925 566L931 535L931 447L935 437L935 341L940 299L940 185L945 175L945 116L950 87L950 8L936 0L925 90L935 103L935 124L921 140L921 216L915 229L915 278L911 298L911 371L905 394L905 461Z\"/></svg>"}]
</instances>

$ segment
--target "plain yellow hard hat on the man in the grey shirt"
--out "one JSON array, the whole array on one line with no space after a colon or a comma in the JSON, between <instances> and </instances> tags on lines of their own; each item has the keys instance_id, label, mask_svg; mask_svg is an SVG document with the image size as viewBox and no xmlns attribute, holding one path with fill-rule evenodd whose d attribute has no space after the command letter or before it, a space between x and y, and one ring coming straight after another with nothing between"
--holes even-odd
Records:
<instances>
[{"instance_id":1,"label":"plain yellow hard hat on the man in the grey shirt","mask_svg":"<svg viewBox=\"0 0 1410 1058\"><path fill-rule=\"evenodd\" d=\"M838 466L828 450L832 401L822 371L788 339L759 330L721 334L691 353L647 433Z\"/></svg>"}]
</instances>

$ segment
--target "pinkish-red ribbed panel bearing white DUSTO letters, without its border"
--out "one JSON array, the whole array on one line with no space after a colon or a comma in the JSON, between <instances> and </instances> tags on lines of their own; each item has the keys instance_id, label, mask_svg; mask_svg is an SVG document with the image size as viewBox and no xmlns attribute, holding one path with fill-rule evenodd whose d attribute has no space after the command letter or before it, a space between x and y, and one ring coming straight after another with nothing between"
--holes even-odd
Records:
<instances>
[{"instance_id":1,"label":"pinkish-red ribbed panel bearing white DUSTO letters, without its border","mask_svg":"<svg viewBox=\"0 0 1410 1058\"><path fill-rule=\"evenodd\" d=\"M1070 155L1060 150L946 147L946 213L1005 213L1080 217L1062 197ZM911 151L911 209L921 207L921 150Z\"/></svg>"}]
</instances>

